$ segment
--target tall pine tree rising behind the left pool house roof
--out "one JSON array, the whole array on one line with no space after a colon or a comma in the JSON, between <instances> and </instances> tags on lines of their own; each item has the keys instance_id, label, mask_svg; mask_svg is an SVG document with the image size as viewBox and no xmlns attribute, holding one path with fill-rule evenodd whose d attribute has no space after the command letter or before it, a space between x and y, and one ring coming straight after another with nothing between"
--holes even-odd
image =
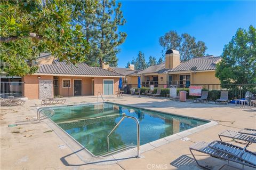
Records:
<instances>
[{"instance_id":1,"label":"tall pine tree rising behind the left pool house roof","mask_svg":"<svg viewBox=\"0 0 256 170\"><path fill-rule=\"evenodd\" d=\"M126 20L123 18L121 3L116 1L99 1L95 14L81 13L74 19L74 23L83 26L86 41L90 43L91 50L87 54L90 66L102 67L103 62L110 66L117 66L116 54L120 51L118 46L124 43L126 33L118 31Z\"/></svg>"}]
</instances>

